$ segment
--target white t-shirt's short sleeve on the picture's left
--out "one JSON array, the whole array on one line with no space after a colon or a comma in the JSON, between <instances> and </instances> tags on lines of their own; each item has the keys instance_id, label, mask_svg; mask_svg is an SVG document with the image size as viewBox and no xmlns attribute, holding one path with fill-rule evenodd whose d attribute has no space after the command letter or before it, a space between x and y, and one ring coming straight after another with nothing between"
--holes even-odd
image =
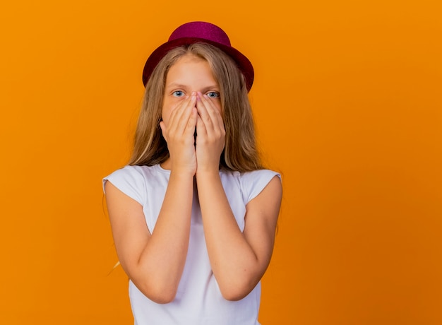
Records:
<instances>
[{"instance_id":1,"label":"white t-shirt's short sleeve on the picture's left","mask_svg":"<svg viewBox=\"0 0 442 325\"><path fill-rule=\"evenodd\" d=\"M131 199L143 205L144 200L142 194L145 193L145 180L141 172L136 169L136 166L126 166L104 177L102 183L103 191L104 184L106 184L107 181L111 182L117 189ZM105 191L104 194L106 194Z\"/></svg>"}]
</instances>

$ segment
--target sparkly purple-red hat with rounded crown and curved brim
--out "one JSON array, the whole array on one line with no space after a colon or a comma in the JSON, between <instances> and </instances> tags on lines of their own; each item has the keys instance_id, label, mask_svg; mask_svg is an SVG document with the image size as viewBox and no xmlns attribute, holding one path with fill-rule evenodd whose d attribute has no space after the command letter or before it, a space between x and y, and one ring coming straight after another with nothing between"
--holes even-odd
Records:
<instances>
[{"instance_id":1,"label":"sparkly purple-red hat with rounded crown and curved brim","mask_svg":"<svg viewBox=\"0 0 442 325\"><path fill-rule=\"evenodd\" d=\"M203 21L193 21L191 23L185 23L179 26L172 35L169 37L169 41L160 45L155 51L150 54L148 61L146 61L143 70L143 84L148 83L150 75L155 69L155 66L161 61L167 52L174 47L181 45L191 45L196 42L205 42L215 47L222 49L237 63L239 70L244 74L246 78L247 90L251 89L253 85L253 66L249 59L247 59L241 52L234 49L230 45L230 40L227 34L219 28L217 25L211 23L205 23Z\"/></svg>"}]
</instances>

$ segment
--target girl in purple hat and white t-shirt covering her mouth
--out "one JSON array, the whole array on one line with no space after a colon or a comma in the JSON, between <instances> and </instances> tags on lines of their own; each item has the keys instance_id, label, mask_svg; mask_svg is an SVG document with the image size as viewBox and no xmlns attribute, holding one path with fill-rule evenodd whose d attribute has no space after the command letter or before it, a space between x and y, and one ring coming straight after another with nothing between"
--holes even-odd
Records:
<instances>
[{"instance_id":1,"label":"girl in purple hat and white t-shirt covering her mouth","mask_svg":"<svg viewBox=\"0 0 442 325\"><path fill-rule=\"evenodd\" d=\"M150 55L133 155L104 178L135 324L255 325L280 210L258 158L250 61L210 23Z\"/></svg>"}]
</instances>

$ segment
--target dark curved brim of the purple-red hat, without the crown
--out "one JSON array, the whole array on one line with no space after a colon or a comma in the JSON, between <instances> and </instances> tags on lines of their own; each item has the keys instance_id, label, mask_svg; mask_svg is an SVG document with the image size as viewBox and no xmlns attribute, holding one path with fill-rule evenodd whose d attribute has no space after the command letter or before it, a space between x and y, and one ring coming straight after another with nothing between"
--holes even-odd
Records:
<instances>
[{"instance_id":1,"label":"dark curved brim of the purple-red hat, without the crown","mask_svg":"<svg viewBox=\"0 0 442 325\"><path fill-rule=\"evenodd\" d=\"M157 47L157 49L155 49L155 51L150 54L150 57L148 57L148 60L145 63L143 69L143 85L145 86L146 83L148 83L150 75L155 69L155 66L157 66L157 64L161 61L161 59L165 56L167 52L169 52L171 49L174 49L174 47L191 45L198 42L208 43L210 45L218 47L223 52L227 53L229 57L232 57L232 59L237 63L239 70L244 74L244 77L246 78L247 91L250 91L251 86L253 85L254 71L249 59L247 59L237 49L234 49L234 47L228 47L226 45L222 45L220 43L212 42L210 40L205 40L198 37L182 37L178 38L177 40L166 42L163 45L160 45L160 47Z\"/></svg>"}]
</instances>

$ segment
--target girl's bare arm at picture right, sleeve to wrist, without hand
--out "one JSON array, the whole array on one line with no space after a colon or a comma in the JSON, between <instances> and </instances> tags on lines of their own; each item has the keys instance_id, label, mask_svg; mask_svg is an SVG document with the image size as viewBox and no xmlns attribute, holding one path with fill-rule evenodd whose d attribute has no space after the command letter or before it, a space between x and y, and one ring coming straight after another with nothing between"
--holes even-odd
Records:
<instances>
[{"instance_id":1,"label":"girl's bare arm at picture right, sleeve to wrist, without hand","mask_svg":"<svg viewBox=\"0 0 442 325\"><path fill-rule=\"evenodd\" d=\"M246 206L244 232L239 230L218 173L197 173L198 196L210 264L227 300L248 295L270 263L282 187L279 177Z\"/></svg>"}]
</instances>

